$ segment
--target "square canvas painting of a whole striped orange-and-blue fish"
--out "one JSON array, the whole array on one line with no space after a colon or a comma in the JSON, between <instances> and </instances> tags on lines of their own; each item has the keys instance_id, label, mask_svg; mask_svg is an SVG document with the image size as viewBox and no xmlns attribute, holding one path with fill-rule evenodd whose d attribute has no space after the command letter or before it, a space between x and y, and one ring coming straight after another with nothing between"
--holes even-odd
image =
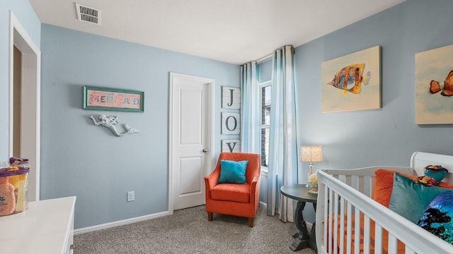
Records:
<instances>
[{"instance_id":1,"label":"square canvas painting of a whole striped orange-and-blue fish","mask_svg":"<svg viewBox=\"0 0 453 254\"><path fill-rule=\"evenodd\" d=\"M381 107L380 47L322 63L322 111L352 111Z\"/></svg>"}]
</instances>

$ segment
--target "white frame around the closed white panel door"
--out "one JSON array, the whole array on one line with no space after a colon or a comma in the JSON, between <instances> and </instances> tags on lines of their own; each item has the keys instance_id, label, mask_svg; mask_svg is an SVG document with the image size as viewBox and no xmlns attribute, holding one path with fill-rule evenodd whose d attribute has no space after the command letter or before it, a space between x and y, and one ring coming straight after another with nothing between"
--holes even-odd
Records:
<instances>
[{"instance_id":1,"label":"white frame around the closed white panel door","mask_svg":"<svg viewBox=\"0 0 453 254\"><path fill-rule=\"evenodd\" d=\"M197 80L207 84L208 90L208 105L207 105L207 116L209 117L207 126L207 139L208 139L208 152L207 161L208 169L213 169L212 157L214 155L214 119L215 119L215 80L212 78L202 78L194 75L186 75L181 73L170 72L169 77L169 90L168 90L168 212L173 214L173 82L175 78L185 78ZM205 170L207 174L208 170Z\"/></svg>"}]
</instances>

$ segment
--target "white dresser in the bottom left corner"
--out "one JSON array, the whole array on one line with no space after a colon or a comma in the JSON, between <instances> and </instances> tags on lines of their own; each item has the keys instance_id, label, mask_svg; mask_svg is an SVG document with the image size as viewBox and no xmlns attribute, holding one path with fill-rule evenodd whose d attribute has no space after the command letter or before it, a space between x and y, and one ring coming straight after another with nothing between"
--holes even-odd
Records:
<instances>
[{"instance_id":1,"label":"white dresser in the bottom left corner","mask_svg":"<svg viewBox=\"0 0 453 254\"><path fill-rule=\"evenodd\" d=\"M76 197L28 203L28 210L0 217L0 251L8 254L70 254Z\"/></svg>"}]
</instances>

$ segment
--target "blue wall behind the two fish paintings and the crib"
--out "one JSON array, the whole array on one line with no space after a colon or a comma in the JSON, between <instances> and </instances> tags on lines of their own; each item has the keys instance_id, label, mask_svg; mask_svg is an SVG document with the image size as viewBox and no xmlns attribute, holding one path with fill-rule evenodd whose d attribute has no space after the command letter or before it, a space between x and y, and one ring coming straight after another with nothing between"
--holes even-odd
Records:
<instances>
[{"instance_id":1,"label":"blue wall behind the two fish paintings and the crib","mask_svg":"<svg viewBox=\"0 0 453 254\"><path fill-rule=\"evenodd\" d=\"M453 44L452 10L449 0L409 0L295 49L298 143L323 145L316 168L406 166L414 151L453 155L452 125L415 124L415 54ZM321 63L376 45L382 108L321 113Z\"/></svg>"}]
</instances>

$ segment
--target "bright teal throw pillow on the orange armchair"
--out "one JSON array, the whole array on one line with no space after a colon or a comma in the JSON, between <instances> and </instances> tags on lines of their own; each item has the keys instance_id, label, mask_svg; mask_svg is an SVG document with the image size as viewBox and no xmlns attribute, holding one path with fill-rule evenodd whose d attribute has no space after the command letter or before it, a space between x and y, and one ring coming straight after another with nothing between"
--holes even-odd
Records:
<instances>
[{"instance_id":1,"label":"bright teal throw pillow on the orange armchair","mask_svg":"<svg viewBox=\"0 0 453 254\"><path fill-rule=\"evenodd\" d=\"M234 162L220 160L219 183L246 183L246 169L248 161Z\"/></svg>"}]
</instances>

